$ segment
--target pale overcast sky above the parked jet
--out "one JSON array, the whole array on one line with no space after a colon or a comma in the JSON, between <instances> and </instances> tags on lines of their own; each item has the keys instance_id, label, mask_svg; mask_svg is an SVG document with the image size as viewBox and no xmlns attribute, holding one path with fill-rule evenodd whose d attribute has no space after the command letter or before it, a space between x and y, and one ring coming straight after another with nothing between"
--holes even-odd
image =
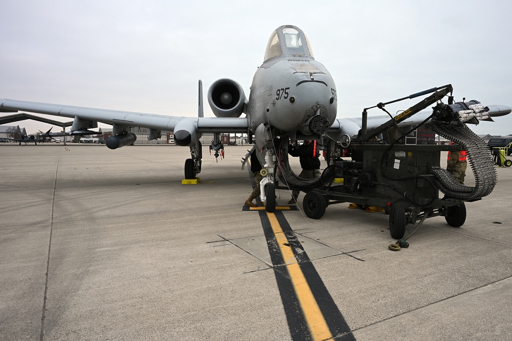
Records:
<instances>
[{"instance_id":1,"label":"pale overcast sky above the parked jet","mask_svg":"<svg viewBox=\"0 0 512 341\"><path fill-rule=\"evenodd\" d=\"M338 118L449 83L457 101L512 106L512 3L502 0L0 4L0 98L197 116L199 79L205 96L212 82L232 78L248 97L270 34L295 25L336 82ZM51 127L13 124L28 133ZM470 127L512 134L512 114Z\"/></svg>"}]
</instances>

